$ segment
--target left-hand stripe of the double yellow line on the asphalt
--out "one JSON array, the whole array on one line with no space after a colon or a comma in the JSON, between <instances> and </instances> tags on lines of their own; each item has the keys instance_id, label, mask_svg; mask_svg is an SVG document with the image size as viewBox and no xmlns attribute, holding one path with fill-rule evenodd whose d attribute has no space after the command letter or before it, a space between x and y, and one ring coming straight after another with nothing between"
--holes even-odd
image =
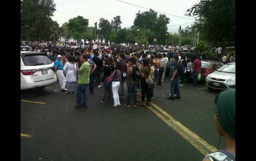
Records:
<instances>
[{"instance_id":1,"label":"left-hand stripe of the double yellow line on the asphalt","mask_svg":"<svg viewBox=\"0 0 256 161\"><path fill-rule=\"evenodd\" d=\"M197 142L195 142L192 138L190 138L186 133L176 127L173 123L168 121L165 117L163 117L160 113L158 113L152 107L147 106L153 113L155 113L159 118L161 118L166 124L172 127L176 132L178 132L183 138L185 138L189 143L191 143L196 149L198 149L203 155L208 155L209 152L204 150Z\"/></svg>"}]
</instances>

